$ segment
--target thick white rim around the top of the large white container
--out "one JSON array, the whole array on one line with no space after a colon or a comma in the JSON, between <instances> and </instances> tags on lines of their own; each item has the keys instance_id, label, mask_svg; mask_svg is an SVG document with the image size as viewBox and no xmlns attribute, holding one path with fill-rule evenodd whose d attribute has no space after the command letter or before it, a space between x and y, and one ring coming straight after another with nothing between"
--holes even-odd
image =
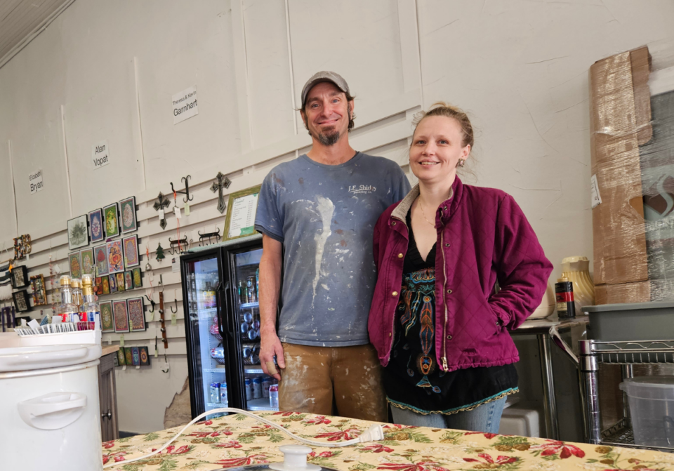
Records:
<instances>
[{"instance_id":1,"label":"thick white rim around the top of the large white container","mask_svg":"<svg viewBox=\"0 0 674 471\"><path fill-rule=\"evenodd\" d=\"M0 372L70 366L99 359L100 345L36 345L0 348Z\"/></svg>"}]
</instances>

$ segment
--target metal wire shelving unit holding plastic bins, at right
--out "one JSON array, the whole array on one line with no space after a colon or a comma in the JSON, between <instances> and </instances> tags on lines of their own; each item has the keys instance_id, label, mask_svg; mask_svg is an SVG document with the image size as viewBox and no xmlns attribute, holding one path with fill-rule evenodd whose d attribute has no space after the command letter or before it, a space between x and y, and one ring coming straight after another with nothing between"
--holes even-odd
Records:
<instances>
[{"instance_id":1,"label":"metal wire shelving unit holding plastic bins, at right","mask_svg":"<svg viewBox=\"0 0 674 471\"><path fill-rule=\"evenodd\" d=\"M643 364L674 364L674 340L621 340L602 342L599 340L579 340L579 355L562 340L556 327L550 327L550 337L579 369L581 409L585 440L591 444L627 446L630 448L674 451L674 446L635 445L632 424L623 392L624 418L609 427L601 429L599 406L599 366L600 364L621 365L623 379L633 378L633 366Z\"/></svg>"}]
</instances>

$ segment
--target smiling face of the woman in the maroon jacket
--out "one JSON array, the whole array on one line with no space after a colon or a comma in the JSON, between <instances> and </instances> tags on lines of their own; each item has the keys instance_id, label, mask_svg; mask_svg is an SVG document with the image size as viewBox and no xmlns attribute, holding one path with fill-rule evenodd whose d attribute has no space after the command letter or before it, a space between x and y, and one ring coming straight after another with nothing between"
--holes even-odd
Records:
<instances>
[{"instance_id":1,"label":"smiling face of the woman in the maroon jacket","mask_svg":"<svg viewBox=\"0 0 674 471\"><path fill-rule=\"evenodd\" d=\"M461 124L454 118L430 116L416 126L409 149L409 166L423 183L454 181L458 159L468 159Z\"/></svg>"}]
</instances>

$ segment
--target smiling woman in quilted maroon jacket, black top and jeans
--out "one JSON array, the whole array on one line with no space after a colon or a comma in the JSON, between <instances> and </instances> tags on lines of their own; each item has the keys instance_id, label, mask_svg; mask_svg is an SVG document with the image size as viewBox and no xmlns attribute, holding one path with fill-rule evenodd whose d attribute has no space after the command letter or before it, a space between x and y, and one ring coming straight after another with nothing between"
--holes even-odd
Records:
<instances>
[{"instance_id":1,"label":"smiling woman in quilted maroon jacket, black top and jeans","mask_svg":"<svg viewBox=\"0 0 674 471\"><path fill-rule=\"evenodd\" d=\"M508 329L541 302L552 265L512 197L456 176L471 147L461 110L437 103L418 120L419 183L374 230L368 327L396 423L496 433L517 392Z\"/></svg>"}]
</instances>

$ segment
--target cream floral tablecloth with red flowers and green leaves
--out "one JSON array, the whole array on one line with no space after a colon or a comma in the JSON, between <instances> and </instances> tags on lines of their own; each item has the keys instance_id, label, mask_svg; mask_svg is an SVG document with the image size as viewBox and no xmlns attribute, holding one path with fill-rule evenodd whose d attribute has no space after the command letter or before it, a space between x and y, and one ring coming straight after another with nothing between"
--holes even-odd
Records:
<instances>
[{"instance_id":1,"label":"cream floral tablecloth with red flowers and green leaves","mask_svg":"<svg viewBox=\"0 0 674 471\"><path fill-rule=\"evenodd\" d=\"M301 437L328 443L355 438L371 425L306 413L258 415ZM115 471L211 471L282 461L278 447L298 443L269 425L237 414L192 425L159 455L125 463L159 449L180 428L106 442L103 463L115 463L107 468ZM674 455L657 451L404 425L385 425L384 431L383 442L342 449L316 447L309 461L343 471L674 470Z\"/></svg>"}]
</instances>

